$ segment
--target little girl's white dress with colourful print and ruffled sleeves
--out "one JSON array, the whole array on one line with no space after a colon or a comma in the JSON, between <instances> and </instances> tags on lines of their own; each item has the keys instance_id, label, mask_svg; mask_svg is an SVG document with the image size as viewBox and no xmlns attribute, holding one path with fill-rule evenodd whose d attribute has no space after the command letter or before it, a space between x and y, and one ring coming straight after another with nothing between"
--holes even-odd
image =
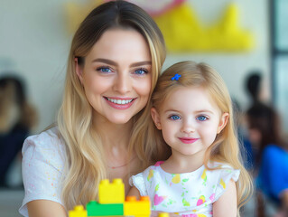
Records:
<instances>
[{"instance_id":1,"label":"little girl's white dress with colourful print and ruffled sleeves","mask_svg":"<svg viewBox=\"0 0 288 217\"><path fill-rule=\"evenodd\" d=\"M196 171L185 174L169 174L161 164L149 166L144 172L133 175L129 182L142 196L148 195L153 211L176 212L183 217L213 216L212 205L226 191L229 181L237 182L240 171L220 163L202 165Z\"/></svg>"}]
</instances>

